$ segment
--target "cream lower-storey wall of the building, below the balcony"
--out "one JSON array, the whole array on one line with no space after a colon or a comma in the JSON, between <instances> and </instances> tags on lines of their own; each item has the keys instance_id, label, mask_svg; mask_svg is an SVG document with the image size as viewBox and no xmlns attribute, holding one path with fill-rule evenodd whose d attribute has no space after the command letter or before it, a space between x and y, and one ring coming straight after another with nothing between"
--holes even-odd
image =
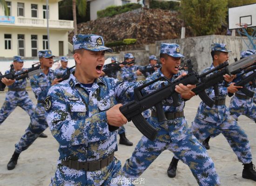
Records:
<instances>
[{"instance_id":1,"label":"cream lower-storey wall of the building, below the balcony","mask_svg":"<svg viewBox=\"0 0 256 186\"><path fill-rule=\"evenodd\" d=\"M4 45L4 34L12 34L12 49L5 50ZM1 27L0 29L0 57L13 57L18 55L18 34L25 35L25 57L31 57L31 34L37 35L37 46L38 51L43 50L43 35L47 35L46 29L31 29L31 28L20 28L19 29L10 29L8 27ZM68 39L67 39L67 30L51 30L50 29L50 49L54 55L59 56L59 41L63 41L64 44L64 55L68 53Z\"/></svg>"}]
</instances>

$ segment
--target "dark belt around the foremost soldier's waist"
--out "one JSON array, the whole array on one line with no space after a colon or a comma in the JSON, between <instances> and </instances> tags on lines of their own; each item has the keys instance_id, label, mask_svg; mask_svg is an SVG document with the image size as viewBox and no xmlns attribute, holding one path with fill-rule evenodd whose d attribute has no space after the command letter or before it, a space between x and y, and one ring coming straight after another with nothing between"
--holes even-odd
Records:
<instances>
[{"instance_id":1,"label":"dark belt around the foremost soldier's waist","mask_svg":"<svg viewBox=\"0 0 256 186\"><path fill-rule=\"evenodd\" d=\"M84 171L98 171L103 167L108 166L114 159L114 153L110 154L107 158L99 159L96 161L75 161L75 160L61 160L63 166L73 168L76 170Z\"/></svg>"}]
</instances>

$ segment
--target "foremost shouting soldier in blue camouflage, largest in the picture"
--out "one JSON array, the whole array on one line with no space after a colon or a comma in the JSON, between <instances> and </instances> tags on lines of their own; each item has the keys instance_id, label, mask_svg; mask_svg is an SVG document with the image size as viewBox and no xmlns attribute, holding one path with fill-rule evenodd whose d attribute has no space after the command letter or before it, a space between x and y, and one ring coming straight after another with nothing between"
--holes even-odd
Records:
<instances>
[{"instance_id":1,"label":"foremost shouting soldier in blue camouflage, largest in the picture","mask_svg":"<svg viewBox=\"0 0 256 186\"><path fill-rule=\"evenodd\" d=\"M45 99L46 119L59 142L60 158L52 186L59 185L131 185L121 174L121 162L115 158L116 131L126 124L121 104L133 100L139 82L120 82L102 78L105 51L99 35L74 35L76 71L68 80L49 89Z\"/></svg>"}]
</instances>

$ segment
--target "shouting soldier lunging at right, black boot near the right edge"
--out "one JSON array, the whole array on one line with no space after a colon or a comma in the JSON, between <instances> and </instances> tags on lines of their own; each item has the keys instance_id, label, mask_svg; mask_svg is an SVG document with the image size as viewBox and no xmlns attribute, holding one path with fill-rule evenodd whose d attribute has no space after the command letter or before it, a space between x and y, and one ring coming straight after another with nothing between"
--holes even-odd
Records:
<instances>
[{"instance_id":1,"label":"shouting soldier lunging at right, black boot near the right edge","mask_svg":"<svg viewBox=\"0 0 256 186\"><path fill-rule=\"evenodd\" d=\"M206 73L215 66L229 60L229 50L225 44L213 43L211 46L211 56L213 64L202 71ZM225 81L231 82L234 77L225 75ZM230 147L236 153L240 162L243 163L242 177L256 181L255 166L252 163L252 155L249 145L249 140L243 129L237 124L237 121L230 115L229 108L225 105L225 99L228 93L236 93L241 86L234 86L231 83L228 87L223 81L218 83L220 96L215 99L215 105L210 108L205 103L201 102L195 120L192 122L191 130L195 137L200 141L204 141L209 136L215 137L222 133L228 140ZM206 93L211 97L215 97L214 88L206 90ZM170 163L170 170L176 171L178 159L173 157Z\"/></svg>"}]
</instances>

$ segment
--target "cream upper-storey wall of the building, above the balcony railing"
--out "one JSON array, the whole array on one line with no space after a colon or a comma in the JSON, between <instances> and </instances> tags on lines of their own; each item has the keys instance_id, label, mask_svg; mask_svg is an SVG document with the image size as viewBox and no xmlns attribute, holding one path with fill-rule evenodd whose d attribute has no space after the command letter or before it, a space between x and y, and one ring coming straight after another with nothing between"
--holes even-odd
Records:
<instances>
[{"instance_id":1,"label":"cream upper-storey wall of the building, above the balcony railing","mask_svg":"<svg viewBox=\"0 0 256 186\"><path fill-rule=\"evenodd\" d=\"M46 0L7 0L12 2L11 16L17 17L17 3L24 3L24 12L26 18L31 18L31 4L37 5L38 19L43 19L43 5L46 5ZM4 10L0 8L0 15L4 15ZM59 20L59 8L56 0L49 0L49 19Z\"/></svg>"}]
</instances>

